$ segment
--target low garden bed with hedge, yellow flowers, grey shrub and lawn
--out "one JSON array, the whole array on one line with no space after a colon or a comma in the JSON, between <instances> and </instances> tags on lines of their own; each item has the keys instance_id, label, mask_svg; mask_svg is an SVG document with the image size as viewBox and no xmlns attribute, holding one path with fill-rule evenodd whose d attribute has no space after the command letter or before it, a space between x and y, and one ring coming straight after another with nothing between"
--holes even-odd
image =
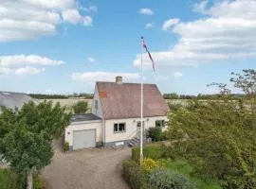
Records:
<instances>
[{"instance_id":1,"label":"low garden bed with hedge, yellow flowers, grey shrub and lawn","mask_svg":"<svg viewBox=\"0 0 256 189\"><path fill-rule=\"evenodd\" d=\"M139 165L139 148L132 150L132 160L122 163L123 178L131 188L177 188L177 189L219 189L213 180L194 175L192 165L175 156L173 149L161 143L144 146L143 166Z\"/></svg>"}]
</instances>

